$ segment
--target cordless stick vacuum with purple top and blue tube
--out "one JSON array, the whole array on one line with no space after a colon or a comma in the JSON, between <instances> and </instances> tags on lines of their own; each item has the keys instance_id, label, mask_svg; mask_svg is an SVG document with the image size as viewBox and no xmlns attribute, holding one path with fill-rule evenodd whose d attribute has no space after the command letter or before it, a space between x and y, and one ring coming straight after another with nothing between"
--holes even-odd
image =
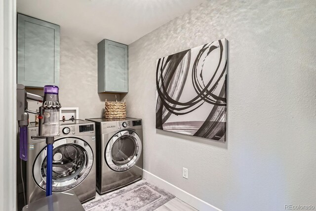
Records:
<instances>
[{"instance_id":1,"label":"cordless stick vacuum with purple top and blue tube","mask_svg":"<svg viewBox=\"0 0 316 211\"><path fill-rule=\"evenodd\" d=\"M40 113L28 110L27 99L42 102ZM45 85L44 96L31 94L25 91L25 86L17 84L17 120L20 132L20 158L27 161L27 127L28 113L39 115L39 136L46 138L46 196L52 194L52 165L54 136L59 132L58 86ZM40 173L40 172L39 172Z\"/></svg>"}]
</instances>

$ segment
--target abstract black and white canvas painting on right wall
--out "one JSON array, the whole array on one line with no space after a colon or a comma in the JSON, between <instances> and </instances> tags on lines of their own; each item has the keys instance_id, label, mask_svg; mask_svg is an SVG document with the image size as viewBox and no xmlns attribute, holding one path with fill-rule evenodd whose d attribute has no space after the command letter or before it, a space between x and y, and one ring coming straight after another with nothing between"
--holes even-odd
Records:
<instances>
[{"instance_id":1,"label":"abstract black and white canvas painting on right wall","mask_svg":"<svg viewBox=\"0 0 316 211\"><path fill-rule=\"evenodd\" d=\"M157 60L156 128L226 141L226 39Z\"/></svg>"}]
</instances>

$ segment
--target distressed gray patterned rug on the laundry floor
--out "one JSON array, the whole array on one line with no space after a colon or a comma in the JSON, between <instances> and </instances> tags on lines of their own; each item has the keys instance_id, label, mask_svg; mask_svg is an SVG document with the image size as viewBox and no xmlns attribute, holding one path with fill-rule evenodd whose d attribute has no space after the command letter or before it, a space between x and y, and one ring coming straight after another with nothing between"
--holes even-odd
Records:
<instances>
[{"instance_id":1,"label":"distressed gray patterned rug on the laundry floor","mask_svg":"<svg viewBox=\"0 0 316 211\"><path fill-rule=\"evenodd\" d=\"M83 204L86 211L154 211L174 195L146 180L107 193Z\"/></svg>"}]
</instances>

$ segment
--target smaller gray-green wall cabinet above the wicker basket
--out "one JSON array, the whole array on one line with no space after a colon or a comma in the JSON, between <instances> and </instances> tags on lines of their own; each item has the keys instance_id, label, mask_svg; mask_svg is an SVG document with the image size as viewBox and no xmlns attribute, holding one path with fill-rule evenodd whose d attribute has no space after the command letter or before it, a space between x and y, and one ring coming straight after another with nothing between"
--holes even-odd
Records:
<instances>
[{"instance_id":1,"label":"smaller gray-green wall cabinet above the wicker basket","mask_svg":"<svg viewBox=\"0 0 316 211\"><path fill-rule=\"evenodd\" d=\"M127 45L109 40L98 43L98 92L128 92Z\"/></svg>"}]
</instances>

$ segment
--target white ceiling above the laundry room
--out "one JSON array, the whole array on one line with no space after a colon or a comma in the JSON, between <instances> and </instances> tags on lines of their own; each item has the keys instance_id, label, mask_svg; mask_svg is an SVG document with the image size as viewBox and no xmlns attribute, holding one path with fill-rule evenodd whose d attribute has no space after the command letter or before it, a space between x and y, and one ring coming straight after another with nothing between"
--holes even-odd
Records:
<instances>
[{"instance_id":1,"label":"white ceiling above the laundry room","mask_svg":"<svg viewBox=\"0 0 316 211\"><path fill-rule=\"evenodd\" d=\"M130 44L205 0L17 0L17 11L84 41Z\"/></svg>"}]
</instances>

